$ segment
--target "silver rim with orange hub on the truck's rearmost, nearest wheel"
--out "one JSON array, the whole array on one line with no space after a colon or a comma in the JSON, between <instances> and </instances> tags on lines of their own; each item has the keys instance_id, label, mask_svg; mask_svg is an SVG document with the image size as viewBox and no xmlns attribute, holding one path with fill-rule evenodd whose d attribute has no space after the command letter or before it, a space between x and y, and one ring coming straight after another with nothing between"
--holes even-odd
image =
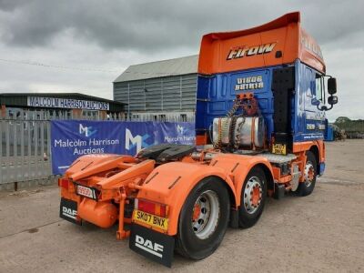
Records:
<instances>
[{"instance_id":1,"label":"silver rim with orange hub on the truck's rearmost, nearest wheel","mask_svg":"<svg viewBox=\"0 0 364 273\"><path fill-rule=\"evenodd\" d=\"M197 238L205 239L214 233L220 214L216 192L204 191L195 202L192 212L192 229Z\"/></svg>"}]
</instances>

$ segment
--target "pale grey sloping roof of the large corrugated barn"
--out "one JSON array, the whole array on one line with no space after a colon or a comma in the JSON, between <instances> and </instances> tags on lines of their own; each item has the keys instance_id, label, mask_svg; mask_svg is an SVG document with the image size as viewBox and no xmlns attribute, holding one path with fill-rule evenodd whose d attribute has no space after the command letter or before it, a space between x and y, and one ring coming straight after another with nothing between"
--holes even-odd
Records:
<instances>
[{"instance_id":1,"label":"pale grey sloping roof of the large corrugated barn","mask_svg":"<svg viewBox=\"0 0 364 273\"><path fill-rule=\"evenodd\" d=\"M194 55L129 66L114 83L197 73L197 62L198 56Z\"/></svg>"}]
</instances>

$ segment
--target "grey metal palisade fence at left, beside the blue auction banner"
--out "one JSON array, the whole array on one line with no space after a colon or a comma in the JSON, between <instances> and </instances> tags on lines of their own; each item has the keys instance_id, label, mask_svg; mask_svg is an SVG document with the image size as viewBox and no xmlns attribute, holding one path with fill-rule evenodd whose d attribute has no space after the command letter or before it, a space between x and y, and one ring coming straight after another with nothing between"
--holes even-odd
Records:
<instances>
[{"instance_id":1,"label":"grey metal palisade fence at left, beside the blue auction banner","mask_svg":"<svg viewBox=\"0 0 364 273\"><path fill-rule=\"evenodd\" d=\"M0 116L0 189L52 180L52 119L73 119L70 111L6 109ZM122 115L108 115L107 120L122 120ZM101 120L99 115L79 119Z\"/></svg>"}]
</instances>

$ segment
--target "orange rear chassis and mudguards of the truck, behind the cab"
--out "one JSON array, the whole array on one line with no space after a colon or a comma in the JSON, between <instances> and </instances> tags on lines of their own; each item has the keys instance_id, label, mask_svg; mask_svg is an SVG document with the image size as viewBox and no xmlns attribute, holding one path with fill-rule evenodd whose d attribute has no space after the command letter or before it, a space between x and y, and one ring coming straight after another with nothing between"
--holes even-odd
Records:
<instances>
[{"instance_id":1,"label":"orange rear chassis and mudguards of the truck, behind the cab","mask_svg":"<svg viewBox=\"0 0 364 273\"><path fill-rule=\"evenodd\" d=\"M129 156L80 157L66 171L65 178L71 182L68 188L61 187L61 196L77 202L78 218L98 227L111 227L118 220L117 238L128 236L124 227L125 222L131 222L131 217L124 217L128 198L147 199L167 205L167 230L145 223L137 224L173 236L177 234L179 213L189 192L202 179L218 177L225 181L232 197L232 206L238 208L242 185L252 167L261 165L273 177L273 170L264 157L219 152L214 155L208 161L185 157L181 161L157 167L154 160L139 160ZM77 195L75 185L96 188L97 200Z\"/></svg>"}]
</instances>

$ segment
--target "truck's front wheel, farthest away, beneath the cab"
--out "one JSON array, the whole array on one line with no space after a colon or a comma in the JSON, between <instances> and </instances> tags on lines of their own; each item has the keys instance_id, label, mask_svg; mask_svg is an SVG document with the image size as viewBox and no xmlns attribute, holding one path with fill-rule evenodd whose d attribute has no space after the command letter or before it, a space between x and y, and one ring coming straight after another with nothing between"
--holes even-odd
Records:
<instances>
[{"instance_id":1,"label":"truck's front wheel, farthest away, beneath the cab","mask_svg":"<svg viewBox=\"0 0 364 273\"><path fill-rule=\"evenodd\" d=\"M315 188L316 178L318 177L318 162L315 155L312 152L307 151L306 157L305 181L298 185L298 197L307 197L310 195Z\"/></svg>"}]
</instances>

